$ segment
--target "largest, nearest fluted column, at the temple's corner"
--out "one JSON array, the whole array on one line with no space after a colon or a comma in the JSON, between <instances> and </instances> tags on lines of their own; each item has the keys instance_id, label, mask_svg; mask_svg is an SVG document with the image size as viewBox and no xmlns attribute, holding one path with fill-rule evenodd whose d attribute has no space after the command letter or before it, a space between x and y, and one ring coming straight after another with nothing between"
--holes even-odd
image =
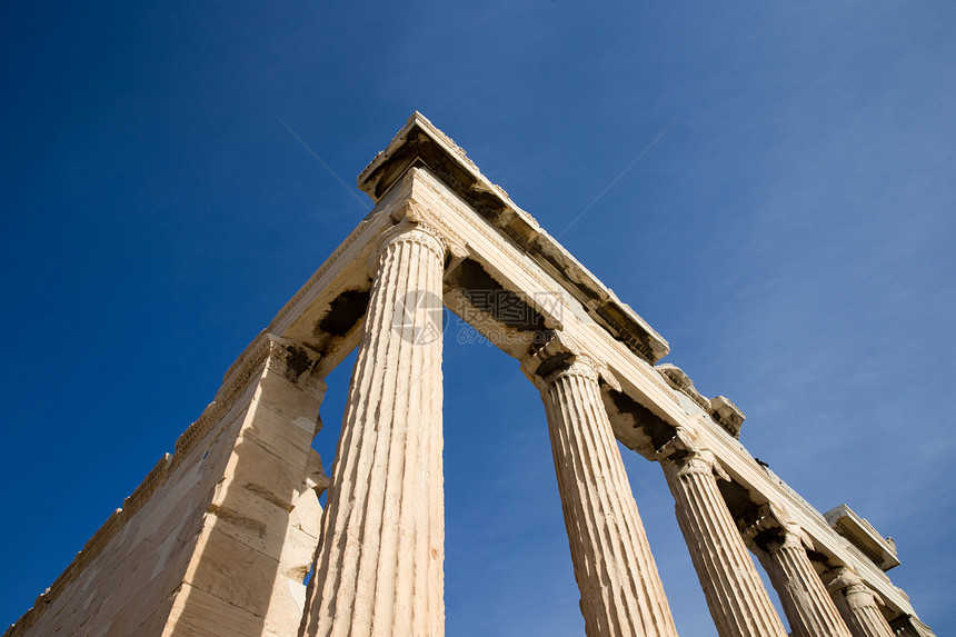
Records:
<instances>
[{"instance_id":1,"label":"largest, nearest fluted column, at the temple's corner","mask_svg":"<svg viewBox=\"0 0 956 637\"><path fill-rule=\"evenodd\" d=\"M380 255L349 387L303 633L445 634L445 245L402 225Z\"/></svg>"}]
</instances>

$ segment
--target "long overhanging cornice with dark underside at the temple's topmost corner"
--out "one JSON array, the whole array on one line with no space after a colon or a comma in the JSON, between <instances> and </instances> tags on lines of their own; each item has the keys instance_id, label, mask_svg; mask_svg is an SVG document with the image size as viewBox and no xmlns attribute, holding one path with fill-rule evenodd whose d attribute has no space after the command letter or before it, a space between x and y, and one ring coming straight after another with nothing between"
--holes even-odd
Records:
<instances>
[{"instance_id":1,"label":"long overhanging cornice with dark underside at the temple's topmost corner","mask_svg":"<svg viewBox=\"0 0 956 637\"><path fill-rule=\"evenodd\" d=\"M598 325L641 358L656 362L670 351L664 337L515 205L501 187L481 175L465 151L421 113L412 113L388 147L362 170L358 187L378 202L416 167L428 169L492 227L552 272Z\"/></svg>"}]
</instances>

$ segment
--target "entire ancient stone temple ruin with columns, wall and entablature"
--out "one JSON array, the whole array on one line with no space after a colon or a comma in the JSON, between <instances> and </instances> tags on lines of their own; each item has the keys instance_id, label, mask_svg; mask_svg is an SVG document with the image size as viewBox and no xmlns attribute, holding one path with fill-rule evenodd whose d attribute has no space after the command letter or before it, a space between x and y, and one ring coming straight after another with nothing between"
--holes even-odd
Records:
<instances>
[{"instance_id":1,"label":"entire ancient stone temple ruin with columns, wall and entablature","mask_svg":"<svg viewBox=\"0 0 956 637\"><path fill-rule=\"evenodd\" d=\"M893 541L757 462L740 410L426 118L358 185L372 212L6 635L444 635L442 305L540 390L588 636L677 635L616 440L660 464L721 637L786 636L751 553L794 635L933 635ZM322 378L356 347L329 478Z\"/></svg>"}]
</instances>

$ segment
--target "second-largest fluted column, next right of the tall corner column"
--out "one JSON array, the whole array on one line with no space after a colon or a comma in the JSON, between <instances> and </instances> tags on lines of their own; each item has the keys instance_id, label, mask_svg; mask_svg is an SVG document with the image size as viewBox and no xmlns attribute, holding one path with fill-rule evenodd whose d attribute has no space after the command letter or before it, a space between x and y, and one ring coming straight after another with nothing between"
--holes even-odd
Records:
<instances>
[{"instance_id":1,"label":"second-largest fluted column, next right of the tall corner column","mask_svg":"<svg viewBox=\"0 0 956 637\"><path fill-rule=\"evenodd\" d=\"M551 348L556 345L552 341ZM546 346L544 356L549 354L554 351ZM558 369L546 364L552 370L535 379L547 411L585 633L588 637L676 637L601 401L597 368L588 357L568 355L556 357ZM535 361L539 368L541 358Z\"/></svg>"}]
</instances>

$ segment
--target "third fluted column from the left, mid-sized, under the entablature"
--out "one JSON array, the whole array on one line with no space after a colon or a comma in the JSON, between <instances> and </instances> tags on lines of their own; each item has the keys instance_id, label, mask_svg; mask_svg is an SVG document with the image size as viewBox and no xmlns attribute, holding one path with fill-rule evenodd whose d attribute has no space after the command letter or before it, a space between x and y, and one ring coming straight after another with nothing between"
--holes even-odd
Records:
<instances>
[{"instance_id":1,"label":"third fluted column from the left, mid-sized, under the entablature","mask_svg":"<svg viewBox=\"0 0 956 637\"><path fill-rule=\"evenodd\" d=\"M708 451L661 460L677 522L720 637L787 637L714 477Z\"/></svg>"}]
</instances>

